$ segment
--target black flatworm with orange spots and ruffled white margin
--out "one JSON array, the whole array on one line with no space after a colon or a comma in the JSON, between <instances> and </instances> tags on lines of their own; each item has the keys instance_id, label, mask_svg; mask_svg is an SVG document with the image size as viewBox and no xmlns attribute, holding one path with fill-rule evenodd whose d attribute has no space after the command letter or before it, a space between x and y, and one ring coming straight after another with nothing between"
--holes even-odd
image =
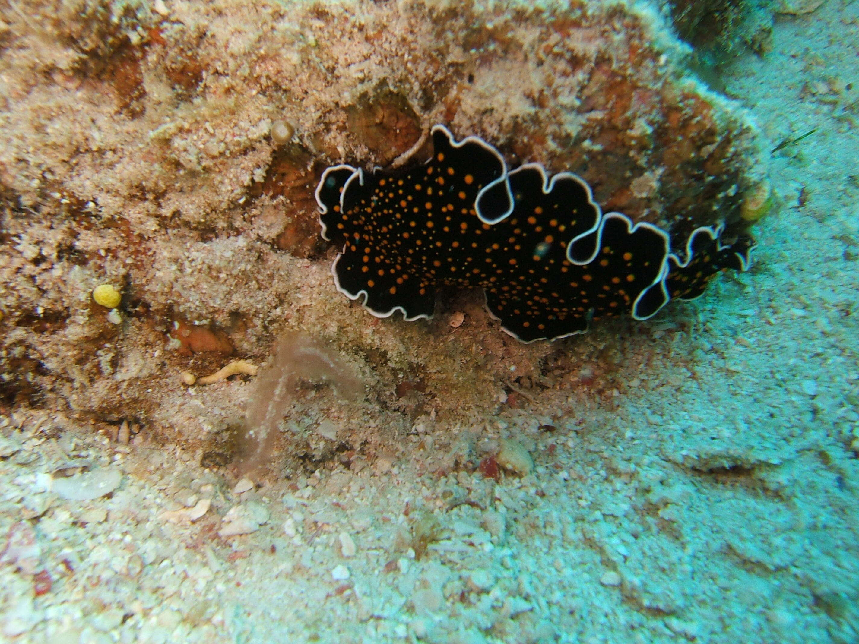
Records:
<instances>
[{"instance_id":1,"label":"black flatworm with orange spots and ruffled white margin","mask_svg":"<svg viewBox=\"0 0 859 644\"><path fill-rule=\"evenodd\" d=\"M344 245L334 283L376 317L430 319L437 288L480 287L504 331L553 340L592 319L649 319L751 264L747 235L728 244L722 226L697 228L674 251L661 228L603 214L575 174L549 178L536 163L509 171L490 144L456 142L443 125L432 138L422 166L333 166L316 189L322 236Z\"/></svg>"}]
</instances>

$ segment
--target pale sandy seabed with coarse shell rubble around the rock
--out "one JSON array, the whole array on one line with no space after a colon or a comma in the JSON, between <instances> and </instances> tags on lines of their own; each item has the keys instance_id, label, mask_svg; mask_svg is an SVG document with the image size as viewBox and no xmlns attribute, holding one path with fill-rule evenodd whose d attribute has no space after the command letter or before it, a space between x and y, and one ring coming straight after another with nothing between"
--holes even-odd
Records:
<instances>
[{"instance_id":1,"label":"pale sandy seabed with coarse shell rubble around the rock","mask_svg":"<svg viewBox=\"0 0 859 644\"><path fill-rule=\"evenodd\" d=\"M0 637L859 640L856 43L859 5L833 0L778 18L771 51L725 72L725 93L778 148L777 207L755 228L752 270L649 322L600 325L539 349L542 373L533 354L497 340L480 348L511 374L493 376L494 386L433 375L455 371L465 363L456 355L477 344L445 349L447 361L424 356L421 377L392 358L388 375L410 384L384 413L304 386L289 410L286 477L250 481L217 461L229 439L210 437L241 417L249 376L185 386L171 362L175 392L161 404L174 406L175 420L149 435L154 422L92 420L52 408L52 398L9 407L0 421ZM249 158L247 171L259 161ZM271 236L265 227L277 226L262 210L254 230ZM186 301L207 295L194 290L195 270L223 270L204 245L244 258L255 243L225 227L183 244L182 257L152 260L183 273L171 288ZM4 243L39 255L21 240ZM459 342L460 327L448 325L457 313L466 313L462 328L479 320L463 296L421 345L425 331L349 307L324 259L279 257L266 270L304 271L301 289L284 287L292 307L312 309L325 292L326 311L345 312L308 313L302 324L336 333L348 319L365 337L384 338L371 356L378 364ZM243 279L252 291L267 275L225 276L224 289ZM88 294L94 283L80 279ZM180 313L191 318L192 305ZM121 406L111 387L155 378L152 363L168 351L161 331L133 316L120 324L149 333L154 353L117 362L123 340L110 340L98 359L111 385L87 380L65 392L70 400L117 396ZM228 331L244 355L265 336L247 332L243 346ZM228 361L185 360L198 374ZM512 380L516 369L529 370L525 380ZM362 375L369 390L388 378ZM433 378L448 379L436 391L444 404L422 389ZM441 409L458 404L460 415ZM513 471L496 480L486 466L474 469L499 449ZM99 484L109 494L93 492Z\"/></svg>"}]
</instances>

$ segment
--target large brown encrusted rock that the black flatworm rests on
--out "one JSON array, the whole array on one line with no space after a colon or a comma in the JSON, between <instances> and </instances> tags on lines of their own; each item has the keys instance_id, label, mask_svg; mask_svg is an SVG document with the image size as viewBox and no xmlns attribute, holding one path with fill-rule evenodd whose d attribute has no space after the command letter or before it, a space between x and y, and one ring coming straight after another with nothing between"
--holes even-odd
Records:
<instances>
[{"instance_id":1,"label":"large brown encrusted rock that the black flatworm rests on","mask_svg":"<svg viewBox=\"0 0 859 644\"><path fill-rule=\"evenodd\" d=\"M260 363L284 326L385 355L367 361L392 405L412 365L422 399L455 388L497 404L502 360L526 377L549 349L511 346L484 313L444 344L446 323L368 320L329 264L310 261L325 250L322 169L421 162L436 123L483 137L511 167L581 173L606 209L678 238L740 222L744 196L760 194L754 128L688 74L658 11L346 0L168 2L161 15L128 2L113 21L113 4L3 15L3 404L199 427L176 376L208 354L167 350L167 312L213 328L247 320L229 343ZM269 134L281 120L295 126L283 145ZM100 283L129 293L113 321L91 307ZM237 404L222 389L218 405Z\"/></svg>"}]
</instances>

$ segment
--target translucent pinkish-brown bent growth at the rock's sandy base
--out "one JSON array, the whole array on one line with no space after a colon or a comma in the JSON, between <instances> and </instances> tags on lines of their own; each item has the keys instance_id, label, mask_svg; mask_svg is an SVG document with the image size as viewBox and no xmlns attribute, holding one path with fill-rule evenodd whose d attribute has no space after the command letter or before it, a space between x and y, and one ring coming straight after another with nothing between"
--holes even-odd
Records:
<instances>
[{"instance_id":1,"label":"translucent pinkish-brown bent growth at the rock's sandy base","mask_svg":"<svg viewBox=\"0 0 859 644\"><path fill-rule=\"evenodd\" d=\"M247 472L269 459L277 423L292 400L299 380L324 380L340 398L356 401L364 386L355 371L331 350L303 333L288 331L278 338L274 359L257 381L247 409L247 450L239 470Z\"/></svg>"}]
</instances>

